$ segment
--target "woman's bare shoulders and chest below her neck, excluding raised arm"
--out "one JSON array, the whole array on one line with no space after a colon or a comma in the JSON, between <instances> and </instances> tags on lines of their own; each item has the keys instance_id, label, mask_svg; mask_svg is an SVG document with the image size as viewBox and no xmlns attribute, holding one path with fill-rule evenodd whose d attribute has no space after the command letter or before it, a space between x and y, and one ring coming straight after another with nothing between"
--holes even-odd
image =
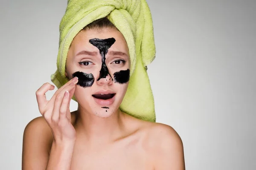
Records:
<instances>
[{"instance_id":1,"label":"woman's bare shoulders and chest below her neck, excluding raised arm","mask_svg":"<svg viewBox=\"0 0 256 170\"><path fill-rule=\"evenodd\" d=\"M77 133L70 170L185 170L183 144L172 127L122 114L127 133L113 142L84 142ZM44 118L32 120L24 133L23 170L45 170L52 141Z\"/></svg>"}]
</instances>

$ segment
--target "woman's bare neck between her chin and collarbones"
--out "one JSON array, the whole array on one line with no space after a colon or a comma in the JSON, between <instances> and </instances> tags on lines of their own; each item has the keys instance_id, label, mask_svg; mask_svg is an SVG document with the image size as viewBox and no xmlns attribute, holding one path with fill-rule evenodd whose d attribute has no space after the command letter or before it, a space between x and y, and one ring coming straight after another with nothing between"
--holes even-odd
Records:
<instances>
[{"instance_id":1,"label":"woman's bare neck between her chin and collarbones","mask_svg":"<svg viewBox=\"0 0 256 170\"><path fill-rule=\"evenodd\" d=\"M74 125L79 140L102 144L119 139L125 132L125 113L119 109L107 118L87 113L82 108L76 111L76 123Z\"/></svg>"}]
</instances>

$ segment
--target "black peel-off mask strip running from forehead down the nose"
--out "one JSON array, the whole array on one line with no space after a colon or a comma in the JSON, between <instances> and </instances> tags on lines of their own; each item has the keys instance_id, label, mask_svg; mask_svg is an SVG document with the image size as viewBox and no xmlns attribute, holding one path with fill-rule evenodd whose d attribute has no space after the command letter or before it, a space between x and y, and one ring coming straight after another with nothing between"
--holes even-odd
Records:
<instances>
[{"instance_id":1,"label":"black peel-off mask strip running from forehead down the nose","mask_svg":"<svg viewBox=\"0 0 256 170\"><path fill-rule=\"evenodd\" d=\"M106 78L109 74L108 67L105 62L106 54L108 53L108 49L111 47L111 45L113 45L114 42L116 42L116 40L114 38L108 38L108 39L93 38L93 39L90 39L89 42L99 49L99 53L102 56L102 68L99 71L99 78L97 79L97 81L99 81L102 78ZM111 79L113 80L112 77Z\"/></svg>"}]
</instances>

